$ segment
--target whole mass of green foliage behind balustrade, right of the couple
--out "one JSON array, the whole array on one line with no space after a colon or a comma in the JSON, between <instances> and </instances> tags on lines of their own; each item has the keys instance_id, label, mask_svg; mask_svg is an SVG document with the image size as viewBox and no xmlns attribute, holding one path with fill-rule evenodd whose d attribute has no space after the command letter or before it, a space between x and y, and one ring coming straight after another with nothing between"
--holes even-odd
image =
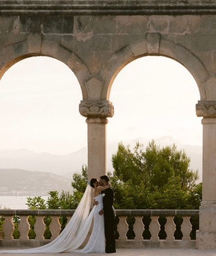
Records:
<instances>
[{"instance_id":1,"label":"whole mass of green foliage behind balustrade, right of the couple","mask_svg":"<svg viewBox=\"0 0 216 256\"><path fill-rule=\"evenodd\" d=\"M198 170L190 169L190 158L175 144L160 148L152 140L144 149L137 142L131 150L120 142L112 162L115 208L199 208Z\"/></svg>"}]
</instances>

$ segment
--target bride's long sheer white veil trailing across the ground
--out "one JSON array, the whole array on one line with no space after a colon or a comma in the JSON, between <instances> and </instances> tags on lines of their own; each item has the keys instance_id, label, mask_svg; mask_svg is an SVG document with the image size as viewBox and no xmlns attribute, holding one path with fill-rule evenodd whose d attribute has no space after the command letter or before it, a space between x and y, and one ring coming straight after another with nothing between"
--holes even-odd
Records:
<instances>
[{"instance_id":1,"label":"bride's long sheer white veil trailing across the ground","mask_svg":"<svg viewBox=\"0 0 216 256\"><path fill-rule=\"evenodd\" d=\"M89 214L91 206L91 186L89 182L86 190L82 196L82 199L77 206L76 211L73 213L72 218L67 223L66 227L49 244L27 248L27 249L16 249L16 250L0 250L1 253L59 253L59 252L71 252L76 249L87 237L90 229L93 212L95 207Z\"/></svg>"}]
</instances>

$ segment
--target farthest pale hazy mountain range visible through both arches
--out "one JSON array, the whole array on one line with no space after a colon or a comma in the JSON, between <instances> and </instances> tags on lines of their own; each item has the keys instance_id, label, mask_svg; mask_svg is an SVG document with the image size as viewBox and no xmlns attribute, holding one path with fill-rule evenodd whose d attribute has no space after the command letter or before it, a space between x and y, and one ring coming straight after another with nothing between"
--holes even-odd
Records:
<instances>
[{"instance_id":1,"label":"farthest pale hazy mountain range visible through both arches","mask_svg":"<svg viewBox=\"0 0 216 256\"><path fill-rule=\"evenodd\" d=\"M133 148L136 141L143 143L146 146L149 139L137 138L123 141L123 144L130 145ZM202 147L197 145L181 144L171 136L164 136L155 139L156 143L165 146L176 144L178 149L185 149L190 156L190 168L198 169L201 181L202 172ZM112 155L118 149L118 142L108 143L108 170L113 171ZM49 153L34 153L27 149L17 150L0 150L0 168L18 168L30 171L51 172L57 175L62 175L72 180L72 174L76 171L80 172L82 164L87 164L87 147L67 155L52 155Z\"/></svg>"}]
</instances>

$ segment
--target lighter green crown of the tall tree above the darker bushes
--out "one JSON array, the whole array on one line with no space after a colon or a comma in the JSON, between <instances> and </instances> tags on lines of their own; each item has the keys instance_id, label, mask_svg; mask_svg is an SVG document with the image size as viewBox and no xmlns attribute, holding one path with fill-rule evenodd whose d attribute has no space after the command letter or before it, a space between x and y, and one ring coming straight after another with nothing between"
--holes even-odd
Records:
<instances>
[{"instance_id":1,"label":"lighter green crown of the tall tree above the darker bushes","mask_svg":"<svg viewBox=\"0 0 216 256\"><path fill-rule=\"evenodd\" d=\"M145 187L162 188L170 176L180 176L181 187L191 188L198 179L198 170L190 170L190 158L185 150L178 150L176 145L160 148L152 140L144 149L139 142L134 152L129 145L118 144L116 154L112 156L114 175L124 182L132 181L134 185L143 183Z\"/></svg>"}]
</instances>

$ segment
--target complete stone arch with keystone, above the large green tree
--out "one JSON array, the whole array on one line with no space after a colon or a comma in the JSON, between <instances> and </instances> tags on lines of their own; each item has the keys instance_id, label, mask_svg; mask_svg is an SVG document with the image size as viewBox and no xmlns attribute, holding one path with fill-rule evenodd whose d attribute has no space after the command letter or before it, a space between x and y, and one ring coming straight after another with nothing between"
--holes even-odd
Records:
<instances>
[{"instance_id":1,"label":"complete stone arch with keystone, above the large green tree","mask_svg":"<svg viewBox=\"0 0 216 256\"><path fill-rule=\"evenodd\" d=\"M130 43L111 55L99 73L105 81L101 99L109 99L113 81L124 66L134 59L147 55L165 56L182 64L193 75L201 100L206 100L205 82L209 79L209 74L204 64L189 49L160 38L159 33L146 33L145 39Z\"/></svg>"}]
</instances>

